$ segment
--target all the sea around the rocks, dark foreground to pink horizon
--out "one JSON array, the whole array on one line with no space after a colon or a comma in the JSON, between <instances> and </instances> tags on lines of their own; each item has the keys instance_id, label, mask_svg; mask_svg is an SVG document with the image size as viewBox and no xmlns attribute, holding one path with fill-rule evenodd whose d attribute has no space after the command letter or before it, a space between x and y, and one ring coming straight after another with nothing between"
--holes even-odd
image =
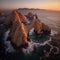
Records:
<instances>
[{"instance_id":1,"label":"all the sea around the rocks, dark foreground to pink horizon","mask_svg":"<svg viewBox=\"0 0 60 60\"><path fill-rule=\"evenodd\" d=\"M51 35L37 37L32 28L29 32L29 46L26 49L22 48L22 51L16 51L10 41L7 41L10 31L4 32L4 60L60 60L60 48L56 45L56 42L51 44L52 37L60 37L60 12L46 10L19 10L19 12L22 12L24 15L27 15L28 12L37 14L38 18L51 28ZM59 37L56 37L55 35L58 34ZM57 41L60 42L60 40Z\"/></svg>"}]
</instances>

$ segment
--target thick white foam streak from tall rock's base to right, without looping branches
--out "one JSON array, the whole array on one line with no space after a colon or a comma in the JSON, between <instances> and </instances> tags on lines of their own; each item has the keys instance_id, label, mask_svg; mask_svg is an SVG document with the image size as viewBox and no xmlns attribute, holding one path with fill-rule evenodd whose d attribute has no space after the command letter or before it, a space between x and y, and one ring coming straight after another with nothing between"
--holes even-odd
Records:
<instances>
[{"instance_id":1,"label":"thick white foam streak from tall rock's base to right, without looping branches","mask_svg":"<svg viewBox=\"0 0 60 60\"><path fill-rule=\"evenodd\" d=\"M51 41L51 38L49 40L43 42L43 43L36 43L36 42L31 41L31 42L29 42L29 45L28 45L27 49L25 49L25 48L23 49L23 52L26 53L26 54L30 54L31 52L34 51L34 48L44 46L50 41Z\"/></svg>"}]
</instances>

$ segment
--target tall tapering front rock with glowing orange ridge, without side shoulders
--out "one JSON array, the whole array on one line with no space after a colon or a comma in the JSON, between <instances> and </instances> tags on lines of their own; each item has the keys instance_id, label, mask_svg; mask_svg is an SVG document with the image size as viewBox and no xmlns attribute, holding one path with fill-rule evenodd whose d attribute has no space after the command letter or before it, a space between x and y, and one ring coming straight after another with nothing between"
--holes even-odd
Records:
<instances>
[{"instance_id":1,"label":"tall tapering front rock with glowing orange ridge, without side shoulders","mask_svg":"<svg viewBox=\"0 0 60 60\"><path fill-rule=\"evenodd\" d=\"M18 12L13 11L12 17L12 26L10 28L11 42L16 45L16 47L28 45L27 32L24 28L23 23L21 23Z\"/></svg>"}]
</instances>

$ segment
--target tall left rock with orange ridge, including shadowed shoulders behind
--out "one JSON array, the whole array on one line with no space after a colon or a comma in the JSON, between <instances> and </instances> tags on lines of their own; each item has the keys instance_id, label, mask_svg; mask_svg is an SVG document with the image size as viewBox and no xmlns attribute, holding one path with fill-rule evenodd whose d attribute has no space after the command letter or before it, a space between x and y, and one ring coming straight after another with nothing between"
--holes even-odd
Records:
<instances>
[{"instance_id":1,"label":"tall left rock with orange ridge, including shadowed shoulders behind","mask_svg":"<svg viewBox=\"0 0 60 60\"><path fill-rule=\"evenodd\" d=\"M23 14L17 11L13 11L3 21L6 29L10 30L9 39L12 45L16 47L26 47L28 45L27 29L22 22L27 22L27 20Z\"/></svg>"}]
</instances>

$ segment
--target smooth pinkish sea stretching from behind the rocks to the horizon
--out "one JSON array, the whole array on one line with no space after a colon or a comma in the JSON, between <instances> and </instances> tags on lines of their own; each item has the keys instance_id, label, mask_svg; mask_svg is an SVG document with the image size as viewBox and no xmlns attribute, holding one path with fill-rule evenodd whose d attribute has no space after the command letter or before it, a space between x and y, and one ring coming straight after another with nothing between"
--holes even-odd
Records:
<instances>
[{"instance_id":1,"label":"smooth pinkish sea stretching from behind the rocks to the horizon","mask_svg":"<svg viewBox=\"0 0 60 60\"><path fill-rule=\"evenodd\" d=\"M28 12L37 14L38 18L47 24L51 29L60 32L60 12L59 11L46 11L46 10L19 10L24 15Z\"/></svg>"}]
</instances>

